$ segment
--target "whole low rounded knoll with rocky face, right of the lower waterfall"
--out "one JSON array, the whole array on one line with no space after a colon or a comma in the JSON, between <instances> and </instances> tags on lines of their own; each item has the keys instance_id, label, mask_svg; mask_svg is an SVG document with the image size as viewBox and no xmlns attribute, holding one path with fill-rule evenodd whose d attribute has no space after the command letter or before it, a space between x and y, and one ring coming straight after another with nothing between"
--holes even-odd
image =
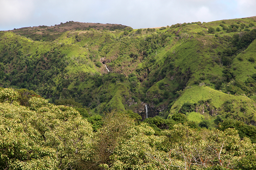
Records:
<instances>
[{"instance_id":1,"label":"whole low rounded knoll with rocky face, right of the lower waterfall","mask_svg":"<svg viewBox=\"0 0 256 170\"><path fill-rule=\"evenodd\" d=\"M256 121L255 103L255 100L244 95L231 95L208 86L195 86L182 92L170 112L182 112L188 117L190 112L196 112L212 122L216 119L236 119L250 123Z\"/></svg>"}]
</instances>

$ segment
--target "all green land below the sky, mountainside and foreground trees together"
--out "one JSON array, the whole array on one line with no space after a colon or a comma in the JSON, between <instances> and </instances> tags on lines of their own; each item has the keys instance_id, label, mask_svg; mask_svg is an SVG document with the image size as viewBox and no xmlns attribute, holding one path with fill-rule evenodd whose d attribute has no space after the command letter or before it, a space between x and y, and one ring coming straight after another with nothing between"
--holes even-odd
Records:
<instances>
[{"instance_id":1,"label":"all green land below the sky, mountainside and foreground trees together","mask_svg":"<svg viewBox=\"0 0 256 170\"><path fill-rule=\"evenodd\" d=\"M0 31L0 169L256 168L255 24Z\"/></svg>"}]
</instances>

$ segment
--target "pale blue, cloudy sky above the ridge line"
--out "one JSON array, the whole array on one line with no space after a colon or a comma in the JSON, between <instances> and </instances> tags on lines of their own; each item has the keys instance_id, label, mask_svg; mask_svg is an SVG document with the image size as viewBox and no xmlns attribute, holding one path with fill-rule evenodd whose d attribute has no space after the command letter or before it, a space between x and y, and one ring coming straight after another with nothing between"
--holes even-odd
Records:
<instances>
[{"instance_id":1,"label":"pale blue, cloudy sky above the ridge line","mask_svg":"<svg viewBox=\"0 0 256 170\"><path fill-rule=\"evenodd\" d=\"M256 0L0 0L0 30L77 21L133 29L256 16Z\"/></svg>"}]
</instances>

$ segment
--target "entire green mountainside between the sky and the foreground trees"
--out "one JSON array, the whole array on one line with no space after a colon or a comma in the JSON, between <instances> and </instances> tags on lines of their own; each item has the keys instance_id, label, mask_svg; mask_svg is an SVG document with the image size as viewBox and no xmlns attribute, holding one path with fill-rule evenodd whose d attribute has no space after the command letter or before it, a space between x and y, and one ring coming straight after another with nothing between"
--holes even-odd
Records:
<instances>
[{"instance_id":1,"label":"entire green mountainside between the sky and the foreground trees","mask_svg":"<svg viewBox=\"0 0 256 170\"><path fill-rule=\"evenodd\" d=\"M131 109L145 119L147 105L149 117L255 124L255 24L250 17L135 30L70 21L1 31L0 85L74 101L91 114Z\"/></svg>"}]
</instances>

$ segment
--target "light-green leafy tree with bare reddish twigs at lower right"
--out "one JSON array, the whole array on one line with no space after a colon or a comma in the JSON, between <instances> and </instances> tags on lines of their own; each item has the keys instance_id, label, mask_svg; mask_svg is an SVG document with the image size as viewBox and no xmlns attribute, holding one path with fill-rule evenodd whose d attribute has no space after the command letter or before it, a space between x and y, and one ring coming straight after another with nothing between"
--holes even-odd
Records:
<instances>
[{"instance_id":1,"label":"light-green leafy tree with bare reddish twigs at lower right","mask_svg":"<svg viewBox=\"0 0 256 170\"><path fill-rule=\"evenodd\" d=\"M198 131L178 124L164 134L168 137L169 151L151 152L148 156L166 170L215 166L238 169L239 161L246 155L256 156L251 141L246 137L241 139L235 129Z\"/></svg>"}]
</instances>

